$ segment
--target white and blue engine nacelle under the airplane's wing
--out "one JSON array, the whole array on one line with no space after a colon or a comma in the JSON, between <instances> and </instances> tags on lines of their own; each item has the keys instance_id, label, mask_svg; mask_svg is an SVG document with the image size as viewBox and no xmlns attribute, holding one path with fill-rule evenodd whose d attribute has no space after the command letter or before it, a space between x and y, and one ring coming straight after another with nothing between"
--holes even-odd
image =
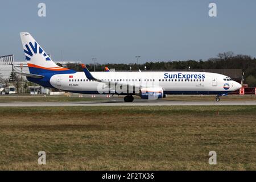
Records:
<instances>
[{"instance_id":1,"label":"white and blue engine nacelle under the airplane's wing","mask_svg":"<svg viewBox=\"0 0 256 182\"><path fill-rule=\"evenodd\" d=\"M160 87L151 87L151 88L142 88L139 91L139 96L144 99L156 100L158 98L165 98L166 94L163 93L163 88Z\"/></svg>"}]
</instances>

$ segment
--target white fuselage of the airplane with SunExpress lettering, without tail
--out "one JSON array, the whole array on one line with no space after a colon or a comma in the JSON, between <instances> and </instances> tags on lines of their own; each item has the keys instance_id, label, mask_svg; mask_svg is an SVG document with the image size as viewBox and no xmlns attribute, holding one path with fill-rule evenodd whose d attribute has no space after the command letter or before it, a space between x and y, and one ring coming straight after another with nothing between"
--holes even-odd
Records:
<instances>
[{"instance_id":1,"label":"white fuselage of the airplane with SunExpress lettering, without tail","mask_svg":"<svg viewBox=\"0 0 256 182\"><path fill-rule=\"evenodd\" d=\"M166 94L218 94L240 89L229 77L207 72L91 72L102 81L162 88ZM57 74L50 78L53 87L69 92L98 93L98 81L89 80L84 72Z\"/></svg>"}]
</instances>

